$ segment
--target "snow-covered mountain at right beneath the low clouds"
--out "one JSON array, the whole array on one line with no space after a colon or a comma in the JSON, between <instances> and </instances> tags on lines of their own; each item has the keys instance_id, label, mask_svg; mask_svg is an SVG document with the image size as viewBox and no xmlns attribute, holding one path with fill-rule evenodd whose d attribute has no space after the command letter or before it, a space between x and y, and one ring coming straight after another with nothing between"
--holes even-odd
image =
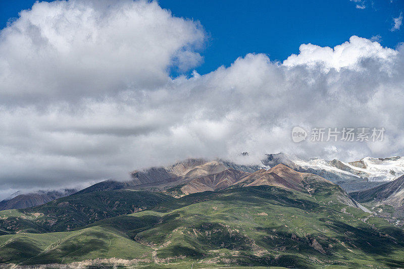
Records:
<instances>
[{"instance_id":1,"label":"snow-covered mountain at right beneath the low clouds","mask_svg":"<svg viewBox=\"0 0 404 269\"><path fill-rule=\"evenodd\" d=\"M268 154L262 161L266 167L284 164L299 172L326 178L346 191L369 189L404 175L404 157L372 158L344 163L340 160L300 159L284 153Z\"/></svg>"}]
</instances>

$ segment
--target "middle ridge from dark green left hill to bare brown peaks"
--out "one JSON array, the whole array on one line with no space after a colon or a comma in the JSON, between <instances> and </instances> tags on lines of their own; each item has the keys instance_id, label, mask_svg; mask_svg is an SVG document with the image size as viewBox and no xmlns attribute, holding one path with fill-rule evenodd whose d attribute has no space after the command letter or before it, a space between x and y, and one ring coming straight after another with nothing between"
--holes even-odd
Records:
<instances>
[{"instance_id":1,"label":"middle ridge from dark green left hill to bare brown peaks","mask_svg":"<svg viewBox=\"0 0 404 269\"><path fill-rule=\"evenodd\" d=\"M7 218L0 219L0 229L4 233L69 231L99 220L144 210L158 203L172 200L171 196L181 197L190 193L217 191L228 187L262 185L281 187L310 196L317 195L318 192L330 192L327 197L323 197L324 202L338 201L369 212L350 198L338 185L314 174L296 172L284 165L254 173L234 169L215 173L222 169L220 163L208 162L191 169L181 170L179 173L184 174L183 178L187 180L183 183L184 179L182 179L180 185L166 190L165 194L130 189L77 192L24 210L3 211ZM205 175L208 172L215 174ZM24 221L17 221L17 219L24 219Z\"/></svg>"}]
</instances>

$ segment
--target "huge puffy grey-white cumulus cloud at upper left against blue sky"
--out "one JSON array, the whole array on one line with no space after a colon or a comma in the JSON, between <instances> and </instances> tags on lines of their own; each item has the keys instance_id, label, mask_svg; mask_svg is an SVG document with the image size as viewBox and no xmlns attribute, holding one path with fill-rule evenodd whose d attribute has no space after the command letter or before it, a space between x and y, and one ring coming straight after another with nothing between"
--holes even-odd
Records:
<instances>
[{"instance_id":1,"label":"huge puffy grey-white cumulus cloud at upper left against blue sky","mask_svg":"<svg viewBox=\"0 0 404 269\"><path fill-rule=\"evenodd\" d=\"M202 61L205 34L157 2L72 0L34 4L1 37L0 99L58 101L164 85Z\"/></svg>"}]
</instances>

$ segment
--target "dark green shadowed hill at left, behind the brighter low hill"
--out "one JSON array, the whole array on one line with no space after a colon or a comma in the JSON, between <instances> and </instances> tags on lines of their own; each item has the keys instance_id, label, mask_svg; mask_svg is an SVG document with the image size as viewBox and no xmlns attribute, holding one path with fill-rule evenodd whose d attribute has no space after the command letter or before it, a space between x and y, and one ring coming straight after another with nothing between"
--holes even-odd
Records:
<instances>
[{"instance_id":1,"label":"dark green shadowed hill at left, behind the brighter low hill","mask_svg":"<svg viewBox=\"0 0 404 269\"><path fill-rule=\"evenodd\" d=\"M70 231L173 199L165 194L148 191L78 193L35 207L0 211L0 233Z\"/></svg>"}]
</instances>

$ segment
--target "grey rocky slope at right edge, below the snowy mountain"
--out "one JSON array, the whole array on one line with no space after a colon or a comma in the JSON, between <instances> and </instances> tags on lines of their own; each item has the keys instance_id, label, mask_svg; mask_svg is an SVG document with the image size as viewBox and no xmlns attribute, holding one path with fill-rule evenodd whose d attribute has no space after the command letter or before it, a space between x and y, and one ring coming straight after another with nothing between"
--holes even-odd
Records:
<instances>
[{"instance_id":1,"label":"grey rocky slope at right edge, below the snowy mountain","mask_svg":"<svg viewBox=\"0 0 404 269\"><path fill-rule=\"evenodd\" d=\"M375 210L379 217L396 226L404 226L404 176L368 190L349 195Z\"/></svg>"}]
</instances>

